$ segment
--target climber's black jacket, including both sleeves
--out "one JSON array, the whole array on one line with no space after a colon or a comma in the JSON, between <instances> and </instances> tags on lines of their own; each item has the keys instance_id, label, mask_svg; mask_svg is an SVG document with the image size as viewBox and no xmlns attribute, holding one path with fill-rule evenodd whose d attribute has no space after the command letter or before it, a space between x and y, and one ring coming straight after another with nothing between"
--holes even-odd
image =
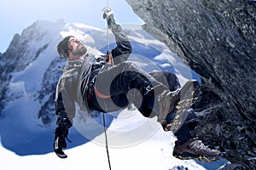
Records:
<instances>
[{"instance_id":1,"label":"climber's black jacket, including both sleeves","mask_svg":"<svg viewBox=\"0 0 256 170\"><path fill-rule=\"evenodd\" d=\"M131 54L131 43L122 31L121 26L112 27L117 47L111 51L113 63L119 64L128 59ZM75 116L76 105L81 111L90 112L86 95L90 80L108 66L108 59L86 56L83 60L68 60L65 71L59 79L55 94L55 114L58 116L57 126L69 128ZM68 118L68 119L67 119ZM66 120L66 121L63 121ZM69 120L67 122L67 120Z\"/></svg>"}]
</instances>

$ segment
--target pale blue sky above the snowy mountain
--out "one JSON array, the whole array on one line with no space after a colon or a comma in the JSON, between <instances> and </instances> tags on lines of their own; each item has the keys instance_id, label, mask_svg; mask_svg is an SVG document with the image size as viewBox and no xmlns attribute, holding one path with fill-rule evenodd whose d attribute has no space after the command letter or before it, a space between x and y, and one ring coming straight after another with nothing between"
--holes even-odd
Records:
<instances>
[{"instance_id":1,"label":"pale blue sky above the snowy mountain","mask_svg":"<svg viewBox=\"0 0 256 170\"><path fill-rule=\"evenodd\" d=\"M105 28L102 8L107 0L9 0L0 2L0 53L9 47L15 33L31 26L36 20L64 20L67 23L83 23L88 26ZM119 24L143 24L143 20L133 13L125 0L108 0L115 19Z\"/></svg>"}]
</instances>

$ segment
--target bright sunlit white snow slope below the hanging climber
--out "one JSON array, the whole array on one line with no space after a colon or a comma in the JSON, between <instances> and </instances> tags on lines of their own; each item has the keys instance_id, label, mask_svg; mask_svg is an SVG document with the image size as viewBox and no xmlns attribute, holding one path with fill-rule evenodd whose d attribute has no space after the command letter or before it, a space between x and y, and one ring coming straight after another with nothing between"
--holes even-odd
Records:
<instances>
[{"instance_id":1,"label":"bright sunlit white snow slope below the hanging climber","mask_svg":"<svg viewBox=\"0 0 256 170\"><path fill-rule=\"evenodd\" d=\"M129 134L131 127L137 127L138 122L145 122L145 119L137 115L137 111L122 111L120 114L130 115L129 119L134 122L127 122L124 117L117 118L111 126L110 130L119 129L126 131L127 135L143 136L145 131L137 130L137 133ZM139 120L139 121L138 121ZM120 123L121 122L121 123ZM124 122L124 123L123 123ZM188 169L218 169L225 163L222 159L212 163L201 164L198 161L182 161L172 156L172 148L174 146L175 137L172 133L165 133L161 130L158 123L154 119L150 120L148 127L154 129L154 133L137 144L124 147L109 147L109 156L112 169L147 169L147 170L168 170L173 167L188 167ZM123 125L123 126L122 126ZM152 129L148 128L148 131ZM108 131L107 131L108 133ZM120 134L121 137L124 134ZM101 134L98 138L104 138ZM116 138L108 136L108 139ZM70 136L70 139L73 139ZM55 153L44 155L17 156L15 153L0 147L1 167L8 169L22 168L32 169L108 169L108 157L106 148L102 144L94 141L81 144L73 149L66 150L67 159L60 159ZM11 163L12 162L12 163Z\"/></svg>"}]
</instances>

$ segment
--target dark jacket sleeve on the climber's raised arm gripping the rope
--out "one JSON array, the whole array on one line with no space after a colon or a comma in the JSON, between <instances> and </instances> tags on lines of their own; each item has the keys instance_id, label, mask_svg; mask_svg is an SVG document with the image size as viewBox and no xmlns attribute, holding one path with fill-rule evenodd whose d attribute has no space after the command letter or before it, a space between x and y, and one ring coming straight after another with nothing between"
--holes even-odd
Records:
<instances>
[{"instance_id":1,"label":"dark jacket sleeve on the climber's raised arm gripping the rope","mask_svg":"<svg viewBox=\"0 0 256 170\"><path fill-rule=\"evenodd\" d=\"M111 53L113 56L113 63L117 65L128 59L131 54L131 42L128 40L128 37L123 32L121 26L114 25L111 30L117 44L117 47L113 48Z\"/></svg>"}]
</instances>

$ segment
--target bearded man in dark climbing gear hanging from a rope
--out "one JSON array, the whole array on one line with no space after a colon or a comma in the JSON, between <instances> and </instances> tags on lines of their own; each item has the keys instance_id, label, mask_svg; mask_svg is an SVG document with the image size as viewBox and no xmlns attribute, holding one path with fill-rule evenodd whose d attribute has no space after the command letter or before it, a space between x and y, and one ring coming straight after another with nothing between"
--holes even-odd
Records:
<instances>
[{"instance_id":1,"label":"bearded man in dark climbing gear hanging from a rope","mask_svg":"<svg viewBox=\"0 0 256 170\"><path fill-rule=\"evenodd\" d=\"M171 72L147 73L126 61L131 54L128 37L116 24L109 8L104 10L103 18L108 21L117 44L111 51L114 65L108 58L84 55L87 49L76 37L65 37L57 45L57 52L67 59L67 66L56 89L56 155L67 157L62 149L67 147L68 129L73 126L75 103L87 113L119 111L132 103L143 116L157 116L163 128L177 136L174 156L200 161L218 159L218 150L209 149L189 132L197 123L191 108L199 95L199 83L189 81L180 88Z\"/></svg>"}]
</instances>

